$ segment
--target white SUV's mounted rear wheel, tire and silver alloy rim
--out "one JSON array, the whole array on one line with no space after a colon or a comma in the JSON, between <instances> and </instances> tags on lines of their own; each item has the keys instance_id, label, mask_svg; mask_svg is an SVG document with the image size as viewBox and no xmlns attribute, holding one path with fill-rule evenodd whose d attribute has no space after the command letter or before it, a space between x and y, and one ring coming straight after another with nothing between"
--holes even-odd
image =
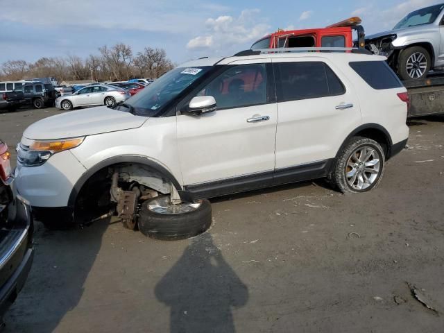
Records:
<instances>
[{"instance_id":1,"label":"white SUV's mounted rear wheel, tire and silver alloy rim","mask_svg":"<svg viewBox=\"0 0 444 333\"><path fill-rule=\"evenodd\" d=\"M336 160L331 182L342 192L370 191L384 173L385 155L375 140L353 137Z\"/></svg>"}]
</instances>

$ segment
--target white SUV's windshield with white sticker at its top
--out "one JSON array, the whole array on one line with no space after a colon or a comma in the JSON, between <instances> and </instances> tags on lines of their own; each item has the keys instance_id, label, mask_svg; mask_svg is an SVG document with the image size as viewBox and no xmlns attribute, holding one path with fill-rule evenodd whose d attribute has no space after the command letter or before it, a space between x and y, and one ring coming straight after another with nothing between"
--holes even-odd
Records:
<instances>
[{"instance_id":1,"label":"white SUV's windshield with white sticker at its top","mask_svg":"<svg viewBox=\"0 0 444 333\"><path fill-rule=\"evenodd\" d=\"M210 68L207 66L173 69L128 99L125 104L133 107L134 114L153 117ZM121 111L128 110L119 105L117 108Z\"/></svg>"}]
</instances>

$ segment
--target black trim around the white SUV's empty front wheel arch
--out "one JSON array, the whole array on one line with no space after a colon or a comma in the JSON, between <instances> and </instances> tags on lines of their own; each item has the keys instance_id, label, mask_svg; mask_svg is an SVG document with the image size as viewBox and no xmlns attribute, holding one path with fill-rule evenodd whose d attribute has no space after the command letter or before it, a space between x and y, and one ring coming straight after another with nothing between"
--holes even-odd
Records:
<instances>
[{"instance_id":1,"label":"black trim around the white SUV's empty front wheel arch","mask_svg":"<svg viewBox=\"0 0 444 333\"><path fill-rule=\"evenodd\" d=\"M180 183L178 182L176 177L174 177L173 174L168 169L166 169L165 167L163 167L159 163L157 163L153 160L150 160L147 157L138 156L138 155L118 155L118 156L110 157L106 160L103 160L103 161L95 164L93 167L90 167L89 169L87 169L87 171L85 173L83 173L82 176L80 176L80 178L77 180L76 184L74 185L73 189L71 190L71 194L69 195L68 207L74 209L74 207L76 205L76 200L77 200L78 194L80 193L80 190L83 188L83 185L85 185L87 180L89 180L97 172L101 171L102 169L104 169L106 167L111 167L114 164L123 164L123 163L143 164L144 166L153 169L154 171L156 171L157 173L160 173L162 176L164 176L165 178L167 178L168 180L171 181L173 186L178 191L180 198L182 200L185 201L185 200L189 199L187 197L187 192L182 190L182 186L180 185Z\"/></svg>"}]
</instances>

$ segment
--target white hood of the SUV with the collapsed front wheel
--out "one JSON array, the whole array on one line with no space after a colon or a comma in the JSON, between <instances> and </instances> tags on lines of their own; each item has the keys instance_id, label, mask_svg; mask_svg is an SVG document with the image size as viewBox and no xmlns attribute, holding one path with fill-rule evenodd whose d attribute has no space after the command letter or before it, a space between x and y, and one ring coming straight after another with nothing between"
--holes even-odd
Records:
<instances>
[{"instance_id":1,"label":"white hood of the SUV with the collapsed front wheel","mask_svg":"<svg viewBox=\"0 0 444 333\"><path fill-rule=\"evenodd\" d=\"M65 139L137 128L148 120L128 112L112 110L106 106L70 111L42 119L26 128L27 139Z\"/></svg>"}]
</instances>

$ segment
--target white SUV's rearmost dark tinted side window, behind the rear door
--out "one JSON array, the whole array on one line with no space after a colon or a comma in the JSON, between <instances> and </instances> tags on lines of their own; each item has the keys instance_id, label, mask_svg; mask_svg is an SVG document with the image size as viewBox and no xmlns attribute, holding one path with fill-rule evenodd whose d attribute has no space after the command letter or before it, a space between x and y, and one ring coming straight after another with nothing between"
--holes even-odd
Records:
<instances>
[{"instance_id":1,"label":"white SUV's rearmost dark tinted side window, behind the rear door","mask_svg":"<svg viewBox=\"0 0 444 333\"><path fill-rule=\"evenodd\" d=\"M385 61L355 61L349 62L349 65L373 89L403 87L398 76Z\"/></svg>"}]
</instances>

